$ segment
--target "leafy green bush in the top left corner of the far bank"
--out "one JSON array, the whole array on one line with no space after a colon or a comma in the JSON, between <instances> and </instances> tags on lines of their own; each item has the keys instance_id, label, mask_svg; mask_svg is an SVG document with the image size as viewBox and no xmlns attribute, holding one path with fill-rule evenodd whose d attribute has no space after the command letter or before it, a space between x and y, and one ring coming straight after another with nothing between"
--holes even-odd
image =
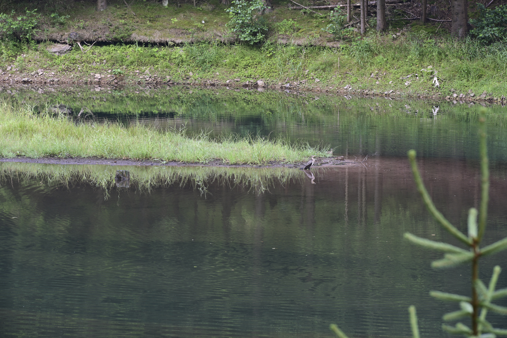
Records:
<instances>
[{"instance_id":1,"label":"leafy green bush in the top left corner of the far bank","mask_svg":"<svg viewBox=\"0 0 507 338\"><path fill-rule=\"evenodd\" d=\"M35 27L39 23L40 15L37 9L26 11L26 15L15 16L14 10L11 14L0 13L0 37L18 37L21 40L30 40L37 32Z\"/></svg>"}]
</instances>

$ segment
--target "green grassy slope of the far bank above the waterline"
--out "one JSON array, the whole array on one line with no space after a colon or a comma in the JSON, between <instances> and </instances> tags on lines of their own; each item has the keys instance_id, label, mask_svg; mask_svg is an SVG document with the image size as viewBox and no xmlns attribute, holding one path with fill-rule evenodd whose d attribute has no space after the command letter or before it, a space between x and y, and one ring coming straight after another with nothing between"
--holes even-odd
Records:
<instances>
[{"instance_id":1,"label":"green grassy slope of the far bank above the waterline","mask_svg":"<svg viewBox=\"0 0 507 338\"><path fill-rule=\"evenodd\" d=\"M340 48L265 43L262 46L195 43L179 47L141 45L93 46L84 54L75 47L56 56L47 44L25 46L23 56L0 61L6 73L0 81L27 77L33 84L58 78L59 84L101 86L116 74L127 85L223 84L240 86L263 80L274 88L352 93L412 95L445 98L474 93L478 98L507 96L507 45L485 46L475 40L455 41L423 32L406 32L396 38L371 35ZM8 65L14 66L6 70ZM430 66L428 68L428 66ZM33 71L43 69L38 76ZM440 87L433 85L437 72ZM410 76L410 77L408 77ZM408 77L408 78L407 78ZM239 79L239 81L234 81ZM227 81L229 80L229 83ZM40 86L40 85L39 85ZM112 87L112 86L111 86Z\"/></svg>"}]
</instances>

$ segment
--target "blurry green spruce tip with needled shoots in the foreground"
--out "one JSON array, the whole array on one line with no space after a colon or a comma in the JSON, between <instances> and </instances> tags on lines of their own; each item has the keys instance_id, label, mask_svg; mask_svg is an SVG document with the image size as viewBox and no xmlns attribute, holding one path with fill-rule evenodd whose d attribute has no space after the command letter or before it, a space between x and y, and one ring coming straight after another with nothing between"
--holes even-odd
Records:
<instances>
[{"instance_id":1,"label":"blurry green spruce tip with needled shoots in the foreground","mask_svg":"<svg viewBox=\"0 0 507 338\"><path fill-rule=\"evenodd\" d=\"M479 260L484 256L497 253L501 250L507 249L507 237L503 238L493 244L481 247L481 241L486 231L486 216L488 213L489 201L489 169L488 158L486 149L486 109L481 109L479 117L479 137L480 137L480 156L481 156L481 203L479 211L476 208L470 208L468 211L468 235L463 234L456 227L454 227L442 215L431 198L429 197L426 188L422 182L421 175L417 168L416 153L414 150L409 151L409 161L412 167L412 173L417 185L417 190L421 194L422 200L426 209L433 216L440 225L447 230L452 236L458 239L466 249L461 247L444 243L431 241L425 238L420 238L410 233L405 233L404 237L410 242L420 245L426 249L438 250L444 252L444 258L433 261L431 266L433 268L451 268L457 265L470 263L472 265L472 295L465 296L454 293L447 293L441 291L431 291L429 294L432 297L441 299L442 301L457 302L459 303L459 310L445 314L442 318L444 321L458 321L460 319L470 319L472 325L467 325L457 322L455 326L443 324L444 330L452 334L460 334L466 337L481 337L481 338L494 338L496 335L507 335L507 329L494 328L491 323L486 320L488 311L492 311L501 315L507 315L507 308L501 307L491 302L495 299L507 296L507 288L496 290L496 282L500 274L500 267L496 266L493 269L491 280L486 284L479 279ZM419 328L417 325L417 315L415 308L409 308L410 324L412 327L412 335L414 338L419 338ZM336 335L340 338L347 338L336 325L330 326Z\"/></svg>"}]
</instances>

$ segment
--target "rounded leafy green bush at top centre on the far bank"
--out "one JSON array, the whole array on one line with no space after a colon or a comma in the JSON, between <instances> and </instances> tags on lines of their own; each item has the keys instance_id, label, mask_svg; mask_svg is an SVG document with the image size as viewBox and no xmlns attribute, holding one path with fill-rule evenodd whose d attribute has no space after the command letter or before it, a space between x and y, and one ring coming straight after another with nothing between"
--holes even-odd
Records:
<instances>
[{"instance_id":1,"label":"rounded leafy green bush at top centre on the far bank","mask_svg":"<svg viewBox=\"0 0 507 338\"><path fill-rule=\"evenodd\" d=\"M268 26L260 15L268 7L264 6L262 0L234 0L232 3L236 7L226 9L231 18L227 27L238 35L240 41L248 42L250 45L262 41Z\"/></svg>"}]
</instances>

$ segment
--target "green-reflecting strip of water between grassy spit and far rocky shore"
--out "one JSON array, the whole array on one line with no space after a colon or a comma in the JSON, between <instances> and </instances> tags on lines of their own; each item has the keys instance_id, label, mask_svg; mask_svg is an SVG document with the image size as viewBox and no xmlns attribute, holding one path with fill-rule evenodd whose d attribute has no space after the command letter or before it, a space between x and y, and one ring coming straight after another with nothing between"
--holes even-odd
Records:
<instances>
[{"instance_id":1,"label":"green-reflecting strip of water between grassy spit and far rocky shore","mask_svg":"<svg viewBox=\"0 0 507 338\"><path fill-rule=\"evenodd\" d=\"M161 130L185 128L210 137L282 138L293 143L331 146L336 155L419 156L477 159L481 104L388 98L345 98L327 93L172 87L96 92L61 89L11 95L44 109L64 111L76 123L118 121ZM507 111L489 109L489 154L507 162Z\"/></svg>"}]
</instances>

